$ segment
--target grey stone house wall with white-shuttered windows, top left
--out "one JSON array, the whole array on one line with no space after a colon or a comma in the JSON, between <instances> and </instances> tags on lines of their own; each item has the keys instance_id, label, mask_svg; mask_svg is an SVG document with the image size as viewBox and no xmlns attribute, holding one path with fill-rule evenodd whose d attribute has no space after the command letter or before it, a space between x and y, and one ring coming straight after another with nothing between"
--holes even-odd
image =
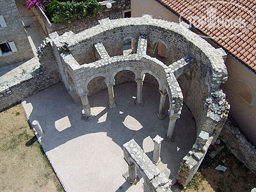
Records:
<instances>
[{"instance_id":1,"label":"grey stone house wall with white-shuttered windows, top left","mask_svg":"<svg viewBox=\"0 0 256 192\"><path fill-rule=\"evenodd\" d=\"M0 67L33 58L34 54L14 0L0 0L0 15L3 15L6 22L6 27L0 28L0 44L14 42L17 48L17 52L0 56Z\"/></svg>"}]
</instances>

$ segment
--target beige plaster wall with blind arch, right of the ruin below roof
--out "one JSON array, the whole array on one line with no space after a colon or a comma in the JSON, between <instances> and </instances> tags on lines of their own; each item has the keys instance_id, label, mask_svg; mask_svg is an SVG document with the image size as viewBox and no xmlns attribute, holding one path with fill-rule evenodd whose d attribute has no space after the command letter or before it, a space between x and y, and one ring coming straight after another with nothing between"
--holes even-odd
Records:
<instances>
[{"instance_id":1,"label":"beige plaster wall with blind arch, right of the ruin below roof","mask_svg":"<svg viewBox=\"0 0 256 192\"><path fill-rule=\"evenodd\" d=\"M229 55L225 64L228 81L222 88L227 93L230 114L246 138L256 146L256 75Z\"/></svg>"}]
</instances>

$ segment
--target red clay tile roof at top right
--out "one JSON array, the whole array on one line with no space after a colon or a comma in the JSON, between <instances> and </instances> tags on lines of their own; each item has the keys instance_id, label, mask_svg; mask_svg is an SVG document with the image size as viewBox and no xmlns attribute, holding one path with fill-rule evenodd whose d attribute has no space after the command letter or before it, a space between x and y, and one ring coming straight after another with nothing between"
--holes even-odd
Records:
<instances>
[{"instance_id":1,"label":"red clay tile roof at top right","mask_svg":"<svg viewBox=\"0 0 256 192\"><path fill-rule=\"evenodd\" d=\"M157 0L256 72L256 0Z\"/></svg>"}]
</instances>

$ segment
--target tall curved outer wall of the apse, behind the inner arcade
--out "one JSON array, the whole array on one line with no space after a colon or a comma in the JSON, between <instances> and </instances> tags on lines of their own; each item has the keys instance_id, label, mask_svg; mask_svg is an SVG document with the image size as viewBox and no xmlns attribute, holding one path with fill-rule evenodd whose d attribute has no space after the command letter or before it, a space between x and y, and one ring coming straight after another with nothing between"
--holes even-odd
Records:
<instances>
[{"instance_id":1,"label":"tall curved outer wall of the apse, behind the inner arcade","mask_svg":"<svg viewBox=\"0 0 256 192\"><path fill-rule=\"evenodd\" d=\"M131 24L129 24L130 22ZM104 35L102 35L103 33ZM97 42L104 45L110 57L121 56L124 39L132 38L138 42L138 36L144 33L148 36L147 54L152 54L152 47L155 42L163 42L166 45L167 63L164 64L167 66L186 55L195 58L195 65L188 73L180 76L178 81L184 94L184 102L195 116L197 134L199 134L201 130L207 127L204 122L207 119L208 107L202 100L205 100L206 97L212 97L211 94L218 91L220 84L227 80L227 69L223 65L225 52L221 49L214 49L183 24L146 17L143 19L118 19L115 20L115 23L108 19L100 20L99 26L77 33L72 41L67 39L67 45L75 60L80 65L87 65L86 63L99 60L95 55L95 47L92 46ZM138 44L135 47L137 46ZM221 97L222 100L225 99L225 95L222 94ZM229 107L225 102L221 102L220 107L227 108L219 114L222 116ZM218 122L218 117L216 121ZM218 127L221 127L221 124ZM204 131L220 132L221 129L218 128L217 130L217 128L211 129L211 131L205 129Z\"/></svg>"}]
</instances>

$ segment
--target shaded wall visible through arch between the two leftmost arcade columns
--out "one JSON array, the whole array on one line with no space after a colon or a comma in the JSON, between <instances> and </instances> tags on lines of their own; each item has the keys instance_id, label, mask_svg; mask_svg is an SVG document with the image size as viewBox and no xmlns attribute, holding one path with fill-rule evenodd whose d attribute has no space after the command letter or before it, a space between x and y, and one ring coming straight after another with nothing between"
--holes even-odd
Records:
<instances>
[{"instance_id":1,"label":"shaded wall visible through arch between the two leftmost arcade columns","mask_svg":"<svg viewBox=\"0 0 256 192\"><path fill-rule=\"evenodd\" d=\"M98 93L102 90L106 90L108 88L108 86L105 83L105 77L99 76L99 77L95 77L93 78L89 83L88 83L88 91L90 95L93 95L95 93Z\"/></svg>"}]
</instances>

